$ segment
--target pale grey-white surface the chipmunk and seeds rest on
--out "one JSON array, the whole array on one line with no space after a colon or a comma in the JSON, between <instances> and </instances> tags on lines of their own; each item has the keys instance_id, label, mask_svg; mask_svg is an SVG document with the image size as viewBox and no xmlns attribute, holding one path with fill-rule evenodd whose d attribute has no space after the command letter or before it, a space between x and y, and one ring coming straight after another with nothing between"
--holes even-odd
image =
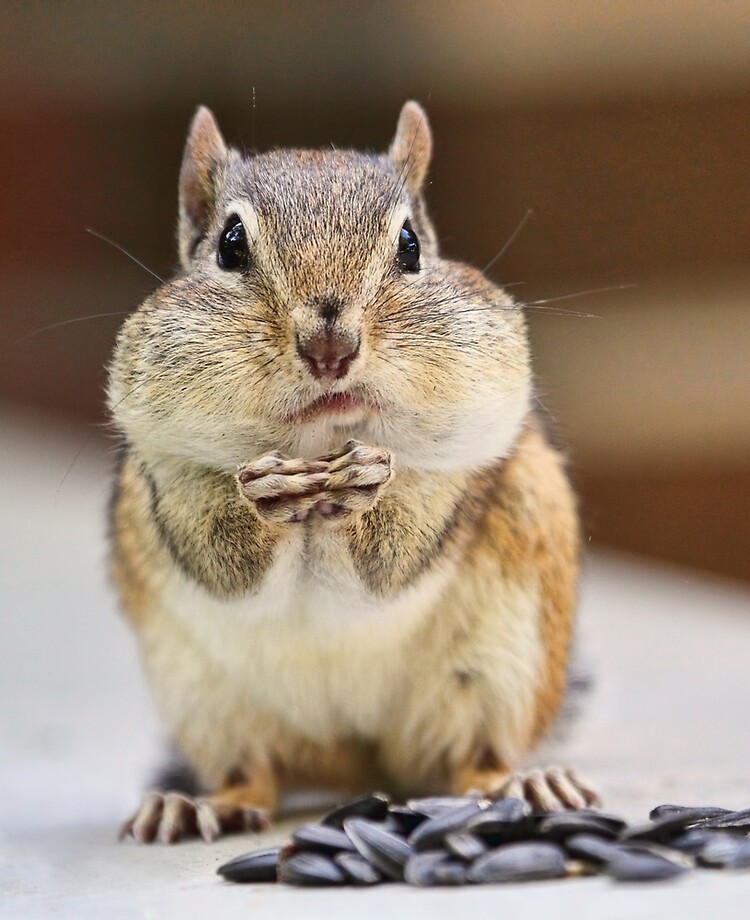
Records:
<instances>
[{"instance_id":1,"label":"pale grey-white surface the chipmunk and seeds rest on","mask_svg":"<svg viewBox=\"0 0 750 920\"><path fill-rule=\"evenodd\" d=\"M216 866L268 838L117 844L159 731L106 584L109 458L96 437L66 474L86 436L0 411L3 917L698 918L750 899L750 873L656 887L231 886ZM596 689L570 738L540 760L574 763L631 819L663 801L750 806L750 592L595 555L581 637Z\"/></svg>"}]
</instances>

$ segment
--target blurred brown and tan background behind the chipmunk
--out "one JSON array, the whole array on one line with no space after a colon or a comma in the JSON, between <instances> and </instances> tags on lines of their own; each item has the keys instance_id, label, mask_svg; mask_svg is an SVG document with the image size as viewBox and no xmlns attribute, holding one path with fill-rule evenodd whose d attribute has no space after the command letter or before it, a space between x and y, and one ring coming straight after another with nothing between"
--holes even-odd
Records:
<instances>
[{"instance_id":1,"label":"blurred brown and tan background behind the chipmunk","mask_svg":"<svg viewBox=\"0 0 750 920\"><path fill-rule=\"evenodd\" d=\"M246 148L380 150L413 97L447 254L485 265L533 209L490 274L547 301L539 393L591 545L750 579L750 5L6 2L0 74L0 407L103 437L156 282L85 228L174 269L198 103Z\"/></svg>"}]
</instances>

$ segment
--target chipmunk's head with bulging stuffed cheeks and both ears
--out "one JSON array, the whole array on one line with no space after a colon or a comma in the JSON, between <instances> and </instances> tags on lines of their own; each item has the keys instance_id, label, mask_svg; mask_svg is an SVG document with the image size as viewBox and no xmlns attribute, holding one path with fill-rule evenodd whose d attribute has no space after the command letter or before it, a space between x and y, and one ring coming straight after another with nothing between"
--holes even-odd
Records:
<instances>
[{"instance_id":1,"label":"chipmunk's head with bulging stuffed cheeks and both ears","mask_svg":"<svg viewBox=\"0 0 750 920\"><path fill-rule=\"evenodd\" d=\"M440 258L431 151L415 102L384 155L243 156L199 109L180 173L182 272L128 319L111 368L129 440L228 470L351 437L415 468L507 453L528 409L523 317Z\"/></svg>"}]
</instances>

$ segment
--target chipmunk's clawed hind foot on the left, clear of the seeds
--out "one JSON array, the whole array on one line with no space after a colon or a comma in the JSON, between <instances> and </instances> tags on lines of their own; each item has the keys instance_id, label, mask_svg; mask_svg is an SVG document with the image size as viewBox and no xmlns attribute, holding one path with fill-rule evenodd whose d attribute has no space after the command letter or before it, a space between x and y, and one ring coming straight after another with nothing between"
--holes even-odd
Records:
<instances>
[{"instance_id":1,"label":"chipmunk's clawed hind foot on the left, clear of the seeds","mask_svg":"<svg viewBox=\"0 0 750 920\"><path fill-rule=\"evenodd\" d=\"M149 792L123 824L120 840L132 837L136 843L177 843L202 837L210 843L222 834L260 831L270 823L260 808L213 802L181 792Z\"/></svg>"}]
</instances>

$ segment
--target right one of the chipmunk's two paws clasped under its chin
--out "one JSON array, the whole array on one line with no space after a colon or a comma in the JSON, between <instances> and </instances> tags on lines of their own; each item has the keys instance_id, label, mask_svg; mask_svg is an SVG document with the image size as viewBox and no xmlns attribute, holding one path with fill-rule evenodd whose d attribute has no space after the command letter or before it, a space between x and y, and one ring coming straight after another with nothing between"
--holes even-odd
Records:
<instances>
[{"instance_id":1,"label":"right one of the chipmunk's two paws clasped under its chin","mask_svg":"<svg viewBox=\"0 0 750 920\"><path fill-rule=\"evenodd\" d=\"M325 518L368 511L393 475L390 453L359 441L347 441L339 453L324 459L328 478L315 510Z\"/></svg>"}]
</instances>

